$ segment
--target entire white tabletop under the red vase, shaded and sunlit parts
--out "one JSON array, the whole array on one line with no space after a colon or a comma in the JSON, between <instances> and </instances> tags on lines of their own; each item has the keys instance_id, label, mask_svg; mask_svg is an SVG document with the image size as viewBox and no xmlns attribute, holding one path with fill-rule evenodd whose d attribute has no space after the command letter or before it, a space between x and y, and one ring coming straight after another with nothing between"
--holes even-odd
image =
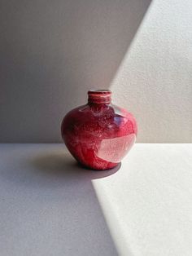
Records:
<instances>
[{"instance_id":1,"label":"entire white tabletop under the red vase, shaded and sunlit parts","mask_svg":"<svg viewBox=\"0 0 192 256\"><path fill-rule=\"evenodd\" d=\"M137 143L110 171L1 144L0 255L191 256L192 144Z\"/></svg>"}]
</instances>

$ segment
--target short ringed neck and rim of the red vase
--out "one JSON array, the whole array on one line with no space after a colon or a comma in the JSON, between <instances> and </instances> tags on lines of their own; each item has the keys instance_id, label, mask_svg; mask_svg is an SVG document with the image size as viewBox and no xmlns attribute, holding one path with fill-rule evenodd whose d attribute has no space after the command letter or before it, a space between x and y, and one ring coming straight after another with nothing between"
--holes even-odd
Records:
<instances>
[{"instance_id":1,"label":"short ringed neck and rim of the red vase","mask_svg":"<svg viewBox=\"0 0 192 256\"><path fill-rule=\"evenodd\" d=\"M89 90L88 104L110 104L111 90Z\"/></svg>"}]
</instances>

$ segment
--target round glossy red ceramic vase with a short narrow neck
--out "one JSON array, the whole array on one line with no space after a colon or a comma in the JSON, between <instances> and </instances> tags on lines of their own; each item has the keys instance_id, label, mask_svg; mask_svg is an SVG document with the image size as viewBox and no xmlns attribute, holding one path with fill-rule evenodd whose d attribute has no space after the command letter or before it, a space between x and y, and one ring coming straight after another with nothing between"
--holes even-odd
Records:
<instances>
[{"instance_id":1,"label":"round glossy red ceramic vase with a short narrow neck","mask_svg":"<svg viewBox=\"0 0 192 256\"><path fill-rule=\"evenodd\" d=\"M111 169L135 143L137 123L131 113L111 104L111 90L89 90L88 95L88 104L63 118L62 137L82 165Z\"/></svg>"}]
</instances>

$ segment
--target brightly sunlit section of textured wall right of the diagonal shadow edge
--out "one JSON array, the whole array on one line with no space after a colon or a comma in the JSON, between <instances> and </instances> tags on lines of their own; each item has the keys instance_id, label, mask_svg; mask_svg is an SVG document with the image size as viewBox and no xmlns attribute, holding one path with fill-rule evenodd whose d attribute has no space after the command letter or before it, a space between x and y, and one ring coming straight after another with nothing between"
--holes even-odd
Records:
<instances>
[{"instance_id":1,"label":"brightly sunlit section of textured wall right of the diagonal shadow edge","mask_svg":"<svg viewBox=\"0 0 192 256\"><path fill-rule=\"evenodd\" d=\"M154 0L111 83L140 142L192 142L192 1Z\"/></svg>"}]
</instances>

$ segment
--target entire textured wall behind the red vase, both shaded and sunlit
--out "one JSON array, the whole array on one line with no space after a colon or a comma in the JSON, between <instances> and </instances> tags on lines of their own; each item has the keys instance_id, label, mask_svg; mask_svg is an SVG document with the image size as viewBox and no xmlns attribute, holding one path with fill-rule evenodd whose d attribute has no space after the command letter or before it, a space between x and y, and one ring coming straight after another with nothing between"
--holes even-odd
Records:
<instances>
[{"instance_id":1,"label":"entire textured wall behind the red vase, both shaded and sunlit","mask_svg":"<svg viewBox=\"0 0 192 256\"><path fill-rule=\"evenodd\" d=\"M190 0L0 2L1 142L61 141L97 88L134 113L137 141L192 142Z\"/></svg>"}]
</instances>

